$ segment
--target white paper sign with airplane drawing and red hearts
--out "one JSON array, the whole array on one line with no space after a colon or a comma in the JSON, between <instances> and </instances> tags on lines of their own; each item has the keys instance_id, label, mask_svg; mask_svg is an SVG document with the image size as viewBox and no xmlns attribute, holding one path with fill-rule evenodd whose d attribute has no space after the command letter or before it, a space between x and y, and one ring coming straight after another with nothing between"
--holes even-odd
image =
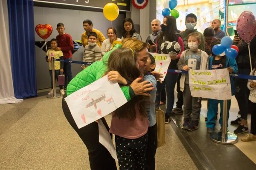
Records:
<instances>
[{"instance_id":1,"label":"white paper sign with airplane drawing and red hearts","mask_svg":"<svg viewBox=\"0 0 256 170\"><path fill-rule=\"evenodd\" d=\"M107 75L65 98L78 128L108 115L127 102L117 83Z\"/></svg>"}]
</instances>

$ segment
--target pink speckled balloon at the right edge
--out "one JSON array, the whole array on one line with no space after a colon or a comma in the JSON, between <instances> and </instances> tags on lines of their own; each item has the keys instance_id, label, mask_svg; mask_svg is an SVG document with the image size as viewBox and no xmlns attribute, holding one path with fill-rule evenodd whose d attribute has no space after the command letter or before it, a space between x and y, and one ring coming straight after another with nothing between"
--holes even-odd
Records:
<instances>
[{"instance_id":1,"label":"pink speckled balloon at the right edge","mask_svg":"<svg viewBox=\"0 0 256 170\"><path fill-rule=\"evenodd\" d=\"M236 21L236 30L239 36L249 43L256 35L255 16L250 11L244 11L240 14Z\"/></svg>"}]
</instances>

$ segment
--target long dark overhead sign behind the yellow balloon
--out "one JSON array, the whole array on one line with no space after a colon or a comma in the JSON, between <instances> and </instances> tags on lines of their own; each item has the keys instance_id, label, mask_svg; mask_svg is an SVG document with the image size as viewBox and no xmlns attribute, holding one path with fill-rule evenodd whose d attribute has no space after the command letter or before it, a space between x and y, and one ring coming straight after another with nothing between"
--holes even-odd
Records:
<instances>
[{"instance_id":1,"label":"long dark overhead sign behind the yellow balloon","mask_svg":"<svg viewBox=\"0 0 256 170\"><path fill-rule=\"evenodd\" d=\"M131 0L33 0L39 3L52 3L69 6L103 9L107 3L115 3L120 11L131 11Z\"/></svg>"}]
</instances>

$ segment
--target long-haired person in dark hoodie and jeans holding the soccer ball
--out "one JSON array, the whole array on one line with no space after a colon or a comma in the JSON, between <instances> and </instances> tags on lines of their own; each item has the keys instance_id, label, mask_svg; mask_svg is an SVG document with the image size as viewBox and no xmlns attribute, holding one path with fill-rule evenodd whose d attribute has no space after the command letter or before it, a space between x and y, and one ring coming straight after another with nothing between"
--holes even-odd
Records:
<instances>
[{"instance_id":1,"label":"long-haired person in dark hoodie and jeans holding the soccer ball","mask_svg":"<svg viewBox=\"0 0 256 170\"><path fill-rule=\"evenodd\" d=\"M177 29L176 26L176 19L175 17L172 16L166 16L166 25L162 24L161 25L162 32L157 35L157 53L162 53L160 46L163 42L165 41L176 41L180 44L181 52L184 51L184 46L183 46L183 40L180 37L180 31ZM179 61L180 54L177 56L170 56L172 58L171 63L169 64L168 69L177 69L177 62ZM166 108L166 114L165 114L165 122L169 122L169 118L173 109L174 105L174 89L175 89L175 84L177 82L178 74L177 73L170 73L167 72L166 77L163 81L163 84L160 84L160 82L157 82L157 95L156 95L156 101L155 101L155 106L158 108L160 105L160 92L163 89L163 85L166 85L166 95L167 95L167 108Z\"/></svg>"}]
</instances>

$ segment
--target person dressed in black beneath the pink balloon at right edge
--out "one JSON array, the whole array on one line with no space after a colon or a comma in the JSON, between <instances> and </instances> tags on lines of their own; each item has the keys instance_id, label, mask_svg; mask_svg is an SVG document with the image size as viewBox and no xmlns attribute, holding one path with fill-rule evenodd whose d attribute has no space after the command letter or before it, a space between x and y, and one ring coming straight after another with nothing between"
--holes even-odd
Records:
<instances>
[{"instance_id":1,"label":"person dressed in black beneath the pink balloon at right edge","mask_svg":"<svg viewBox=\"0 0 256 170\"><path fill-rule=\"evenodd\" d=\"M248 44L241 39L239 36L235 36L233 40L233 45L238 46L239 52L236 58L236 63L238 65L239 74L250 75L250 58ZM256 37L250 42L250 52L251 52L251 62L256 61ZM254 48L253 48L254 47ZM236 120L231 121L231 124L238 124L234 133L242 134L249 131L247 126L247 115L250 112L249 108L249 94L250 90L247 88L247 79L235 78L236 86L236 100L239 106L239 112L241 117L237 117Z\"/></svg>"}]
</instances>

